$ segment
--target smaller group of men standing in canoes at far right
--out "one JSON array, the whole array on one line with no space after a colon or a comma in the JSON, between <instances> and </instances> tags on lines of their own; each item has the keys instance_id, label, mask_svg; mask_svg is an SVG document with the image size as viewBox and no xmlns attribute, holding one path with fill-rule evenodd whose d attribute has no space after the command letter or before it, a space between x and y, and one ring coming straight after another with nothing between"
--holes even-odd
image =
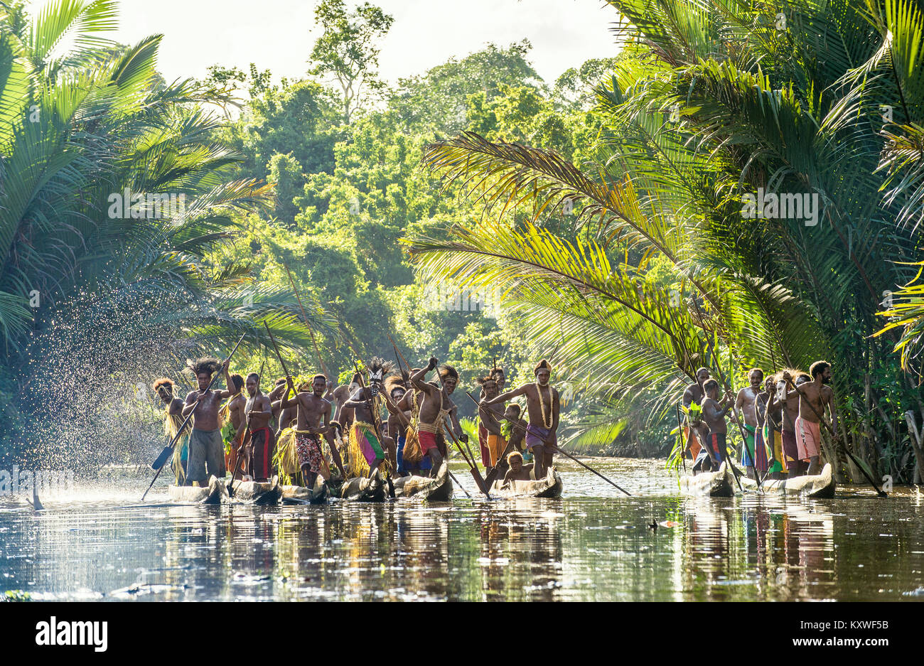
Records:
<instances>
[{"instance_id":1,"label":"smaller group of men standing in canoes at far right","mask_svg":"<svg viewBox=\"0 0 924 666\"><path fill-rule=\"evenodd\" d=\"M736 395L720 398L719 382L707 368L696 372L696 382L684 392L687 413L684 454L693 460L694 472L718 469L727 456L730 418L744 439L742 465L748 477L789 478L821 471L821 423L830 414L837 432L831 364L816 361L808 373L784 369L764 377L760 368L748 372L748 385ZM828 424L825 423L827 426Z\"/></svg>"}]
</instances>

